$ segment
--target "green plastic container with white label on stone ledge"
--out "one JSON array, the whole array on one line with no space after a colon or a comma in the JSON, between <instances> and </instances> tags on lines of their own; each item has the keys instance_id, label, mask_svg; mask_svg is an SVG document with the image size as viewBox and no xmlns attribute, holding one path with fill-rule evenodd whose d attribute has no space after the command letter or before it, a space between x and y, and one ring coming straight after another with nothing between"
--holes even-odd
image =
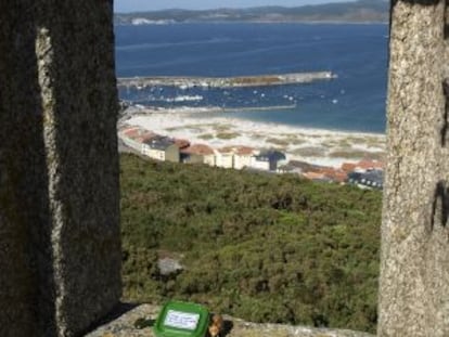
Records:
<instances>
[{"instance_id":1,"label":"green plastic container with white label on stone ledge","mask_svg":"<svg viewBox=\"0 0 449 337\"><path fill-rule=\"evenodd\" d=\"M209 312L195 303L169 301L166 303L153 330L157 337L204 337L209 323Z\"/></svg>"}]
</instances>

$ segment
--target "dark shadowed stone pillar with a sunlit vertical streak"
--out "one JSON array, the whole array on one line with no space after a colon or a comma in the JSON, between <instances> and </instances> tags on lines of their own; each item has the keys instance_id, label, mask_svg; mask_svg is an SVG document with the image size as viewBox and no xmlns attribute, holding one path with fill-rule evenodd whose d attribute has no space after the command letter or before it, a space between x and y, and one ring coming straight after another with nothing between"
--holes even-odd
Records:
<instances>
[{"instance_id":1,"label":"dark shadowed stone pillar with a sunlit vertical streak","mask_svg":"<svg viewBox=\"0 0 449 337\"><path fill-rule=\"evenodd\" d=\"M0 336L76 336L120 297L112 1L0 1Z\"/></svg>"}]
</instances>

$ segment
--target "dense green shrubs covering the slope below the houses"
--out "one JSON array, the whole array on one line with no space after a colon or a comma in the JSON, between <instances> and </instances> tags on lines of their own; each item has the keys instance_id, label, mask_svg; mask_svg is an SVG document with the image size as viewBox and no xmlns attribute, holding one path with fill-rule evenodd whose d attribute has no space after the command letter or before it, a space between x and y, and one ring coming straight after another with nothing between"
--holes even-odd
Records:
<instances>
[{"instance_id":1,"label":"dense green shrubs covering the slope below the houses","mask_svg":"<svg viewBox=\"0 0 449 337\"><path fill-rule=\"evenodd\" d=\"M381 194L121 156L125 297L375 330ZM157 259L184 270L162 275Z\"/></svg>"}]
</instances>

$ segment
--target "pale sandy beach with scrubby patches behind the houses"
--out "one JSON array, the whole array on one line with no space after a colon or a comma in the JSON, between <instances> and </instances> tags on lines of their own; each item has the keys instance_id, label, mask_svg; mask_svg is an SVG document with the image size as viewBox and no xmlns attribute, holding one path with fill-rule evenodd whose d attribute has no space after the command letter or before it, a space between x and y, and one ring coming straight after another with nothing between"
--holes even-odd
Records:
<instances>
[{"instance_id":1,"label":"pale sandy beach with scrubby patches behind the houses","mask_svg":"<svg viewBox=\"0 0 449 337\"><path fill-rule=\"evenodd\" d=\"M210 118L200 117L198 112L210 112ZM339 167L342 163L362 158L382 160L385 154L383 134L251 121L217 114L216 108L141 108L128 113L121 120L124 122L215 148L228 145L277 148L284 152L288 160L304 160L322 166Z\"/></svg>"}]
</instances>

